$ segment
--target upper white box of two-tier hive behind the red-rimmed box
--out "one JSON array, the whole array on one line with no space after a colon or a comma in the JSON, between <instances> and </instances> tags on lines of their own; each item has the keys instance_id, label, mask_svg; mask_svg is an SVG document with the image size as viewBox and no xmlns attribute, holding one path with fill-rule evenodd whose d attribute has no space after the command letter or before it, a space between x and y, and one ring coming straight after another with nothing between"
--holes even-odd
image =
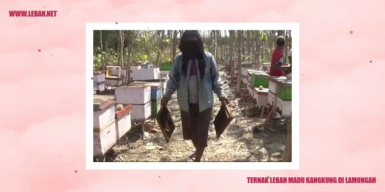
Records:
<instances>
[{"instance_id":1,"label":"upper white box of two-tier hive behind the red-rimmed box","mask_svg":"<svg viewBox=\"0 0 385 192\"><path fill-rule=\"evenodd\" d=\"M151 101L151 86L126 85L115 88L116 103L145 104Z\"/></svg>"}]
</instances>

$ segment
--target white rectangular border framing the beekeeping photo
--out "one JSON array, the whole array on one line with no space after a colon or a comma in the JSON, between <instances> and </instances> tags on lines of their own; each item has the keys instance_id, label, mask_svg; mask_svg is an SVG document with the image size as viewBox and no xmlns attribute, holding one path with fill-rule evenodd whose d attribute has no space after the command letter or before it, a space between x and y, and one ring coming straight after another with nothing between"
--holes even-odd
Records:
<instances>
[{"instance_id":1,"label":"white rectangular border framing the beekeeping photo","mask_svg":"<svg viewBox=\"0 0 385 192\"><path fill-rule=\"evenodd\" d=\"M300 168L300 66L299 23L86 23L85 24L85 169L92 170L268 170ZM292 162L93 162L93 31L94 30L291 30L293 52L292 76Z\"/></svg>"}]
</instances>

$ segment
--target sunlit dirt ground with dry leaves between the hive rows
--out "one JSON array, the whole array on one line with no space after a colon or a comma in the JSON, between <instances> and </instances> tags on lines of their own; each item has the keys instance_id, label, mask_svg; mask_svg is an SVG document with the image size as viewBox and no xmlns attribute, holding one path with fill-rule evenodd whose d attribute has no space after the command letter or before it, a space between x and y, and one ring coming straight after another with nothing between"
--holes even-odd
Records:
<instances>
[{"instance_id":1,"label":"sunlit dirt ground with dry leaves between the hive rows","mask_svg":"<svg viewBox=\"0 0 385 192\"><path fill-rule=\"evenodd\" d=\"M257 114L251 114L246 110L246 100L235 96L236 83L228 79L224 69L221 69L220 73L234 119L219 139L216 139L214 125L211 124L208 147L205 149L201 161L281 161L286 141L285 122L272 120L268 127L253 134L253 127L261 127L264 120L259 119L260 109ZM214 94L212 121L220 106L218 97ZM152 130L145 132L144 139L141 138L141 127L133 125L127 134L132 149L125 144L125 139L121 139L113 147L114 154L110 154L106 161L187 161L193 153L194 146L191 141L183 140L176 94L170 99L168 108L176 125L169 143L166 143L158 124L154 125L154 118L152 118L146 123L147 129ZM254 111L258 111L258 109L254 109Z\"/></svg>"}]
</instances>

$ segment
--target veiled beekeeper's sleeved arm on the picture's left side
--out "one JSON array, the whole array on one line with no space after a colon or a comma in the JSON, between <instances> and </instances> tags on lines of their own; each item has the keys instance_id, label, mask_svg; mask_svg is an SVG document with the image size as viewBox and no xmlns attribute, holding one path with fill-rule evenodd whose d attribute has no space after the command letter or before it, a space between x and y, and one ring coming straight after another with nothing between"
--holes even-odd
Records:
<instances>
[{"instance_id":1,"label":"veiled beekeeper's sleeved arm on the picture's left side","mask_svg":"<svg viewBox=\"0 0 385 192\"><path fill-rule=\"evenodd\" d=\"M171 98L172 94L175 93L175 90L179 88L179 69L178 69L179 55L177 55L172 61L171 69L168 76L170 77L167 81L166 91L163 97Z\"/></svg>"}]
</instances>

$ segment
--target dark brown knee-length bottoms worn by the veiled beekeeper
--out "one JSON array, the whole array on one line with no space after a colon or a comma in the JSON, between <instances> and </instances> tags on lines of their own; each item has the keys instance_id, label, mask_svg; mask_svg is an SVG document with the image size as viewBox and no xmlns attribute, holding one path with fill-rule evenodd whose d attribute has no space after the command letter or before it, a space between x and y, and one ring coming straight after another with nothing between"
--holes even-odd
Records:
<instances>
[{"instance_id":1,"label":"dark brown knee-length bottoms worn by the veiled beekeeper","mask_svg":"<svg viewBox=\"0 0 385 192\"><path fill-rule=\"evenodd\" d=\"M207 147L211 111L206 109L199 113L199 104L190 104L189 113L181 111L183 139L192 140L196 147Z\"/></svg>"}]
</instances>

